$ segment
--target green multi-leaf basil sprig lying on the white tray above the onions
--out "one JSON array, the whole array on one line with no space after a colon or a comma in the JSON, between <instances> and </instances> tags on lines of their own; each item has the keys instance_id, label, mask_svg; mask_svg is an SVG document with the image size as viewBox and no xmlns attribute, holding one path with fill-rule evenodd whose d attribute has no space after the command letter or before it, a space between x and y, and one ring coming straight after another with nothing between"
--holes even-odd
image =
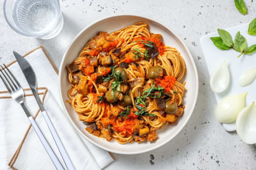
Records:
<instances>
[{"instance_id":1,"label":"green multi-leaf basil sprig lying on the white tray above the onions","mask_svg":"<svg viewBox=\"0 0 256 170\"><path fill-rule=\"evenodd\" d=\"M210 40L212 40L213 44L220 50L228 50L229 48L233 48L237 52L241 52L238 57L240 57L242 54L252 54L256 51L256 44L247 48L247 41L245 37L240 34L240 31L238 31L235 35L234 42L232 41L232 37L228 31L218 29L218 33L220 37L210 37Z\"/></svg>"}]
</instances>

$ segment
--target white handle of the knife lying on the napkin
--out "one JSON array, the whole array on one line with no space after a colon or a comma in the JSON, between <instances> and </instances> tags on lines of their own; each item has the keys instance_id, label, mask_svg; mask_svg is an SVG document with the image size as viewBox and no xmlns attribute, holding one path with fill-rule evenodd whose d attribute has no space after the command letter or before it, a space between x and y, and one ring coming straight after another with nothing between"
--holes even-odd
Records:
<instances>
[{"instance_id":1,"label":"white handle of the knife lying on the napkin","mask_svg":"<svg viewBox=\"0 0 256 170\"><path fill-rule=\"evenodd\" d=\"M61 142L61 139L59 138L55 128L53 127L53 124L51 123L51 120L50 120L47 112L42 111L42 114L44 116L44 119L46 120L47 126L49 127L49 129L51 131L51 135L53 136L53 139L55 140L55 143L59 149L59 152L61 153L64 163L66 164L66 167L68 168L68 170L75 170L70 158L68 157L68 153L66 153L66 150Z\"/></svg>"}]
</instances>

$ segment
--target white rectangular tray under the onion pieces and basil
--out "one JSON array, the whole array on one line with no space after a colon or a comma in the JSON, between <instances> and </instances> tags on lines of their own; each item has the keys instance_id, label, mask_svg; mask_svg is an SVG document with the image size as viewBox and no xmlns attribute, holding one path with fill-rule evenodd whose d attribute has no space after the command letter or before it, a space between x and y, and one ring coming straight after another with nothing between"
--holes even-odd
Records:
<instances>
[{"instance_id":1,"label":"white rectangular tray under the onion pieces and basil","mask_svg":"<svg viewBox=\"0 0 256 170\"><path fill-rule=\"evenodd\" d=\"M240 26L235 26L232 28L224 29L228 31L233 41L235 39L235 35L238 31L240 31L241 35L243 35L247 39L248 47L256 44L256 36L248 35L249 23L243 24ZM256 79L248 86L240 87L238 85L238 80L241 76L241 74L249 69L256 67L256 52L247 55L243 54L239 58L237 56L240 54L239 52L229 49L229 50L220 50L210 40L210 37L219 37L218 32L210 33L208 35L205 35L201 38L201 46L203 50L203 54L205 56L205 60L207 63L208 71L211 74L213 70L220 65L224 61L224 59L227 59L229 73L230 73L230 81L228 88L221 93L214 93L217 102L220 101L221 98L224 96L230 95L230 94L242 94L243 92L248 92L246 96L246 105L250 105L252 102L256 102ZM210 81L210 80L209 80ZM209 87L210 89L210 87ZM210 89L211 90L211 89ZM227 126L227 124L223 124L224 127ZM226 127L225 127L226 129Z\"/></svg>"}]
</instances>

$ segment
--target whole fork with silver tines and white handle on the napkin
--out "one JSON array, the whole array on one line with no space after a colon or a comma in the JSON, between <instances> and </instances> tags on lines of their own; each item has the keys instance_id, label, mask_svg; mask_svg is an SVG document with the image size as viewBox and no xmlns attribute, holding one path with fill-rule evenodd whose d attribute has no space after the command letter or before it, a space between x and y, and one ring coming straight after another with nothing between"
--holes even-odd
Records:
<instances>
[{"instance_id":1,"label":"whole fork with silver tines and white handle on the napkin","mask_svg":"<svg viewBox=\"0 0 256 170\"><path fill-rule=\"evenodd\" d=\"M2 65L1 65L1 67L2 67ZM4 67L6 69L4 69ZM6 67L5 64L4 64L4 67L2 67L3 71L0 68L0 72L4 76L4 77L2 77L1 74L0 74L0 78L2 79L4 85L6 86L9 94L11 95L13 100L15 100L16 102L21 104L21 107L25 111L25 113L26 113L30 123L32 124L34 130L36 131L36 134L38 135L39 139L41 140L42 144L44 145L44 148L46 149L46 152L50 156L51 161L53 161L53 164L55 165L57 170L64 170L64 168L61 165L59 159L56 157L55 153L51 149L51 146L49 145L49 143L47 142L46 138L44 137L42 131L39 129L39 127L36 124L34 118L31 116L31 114L28 111L26 105L24 104L24 102L23 102L24 92L23 92L23 89L22 89L21 85L19 84L17 79L13 76L13 74L10 72L9 68ZM14 83L13 80L15 81L15 83Z\"/></svg>"}]
</instances>

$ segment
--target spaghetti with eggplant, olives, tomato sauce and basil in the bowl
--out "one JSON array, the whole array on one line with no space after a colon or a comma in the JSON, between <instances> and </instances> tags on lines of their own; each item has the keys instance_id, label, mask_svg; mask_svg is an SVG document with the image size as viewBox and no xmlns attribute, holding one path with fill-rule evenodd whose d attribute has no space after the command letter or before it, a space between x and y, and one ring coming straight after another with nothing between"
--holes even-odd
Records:
<instances>
[{"instance_id":1,"label":"spaghetti with eggplant, olives, tomato sauce and basil in the bowl","mask_svg":"<svg viewBox=\"0 0 256 170\"><path fill-rule=\"evenodd\" d=\"M85 130L119 144L157 139L182 116L186 74L175 48L136 22L99 32L67 66L70 103Z\"/></svg>"}]
</instances>

